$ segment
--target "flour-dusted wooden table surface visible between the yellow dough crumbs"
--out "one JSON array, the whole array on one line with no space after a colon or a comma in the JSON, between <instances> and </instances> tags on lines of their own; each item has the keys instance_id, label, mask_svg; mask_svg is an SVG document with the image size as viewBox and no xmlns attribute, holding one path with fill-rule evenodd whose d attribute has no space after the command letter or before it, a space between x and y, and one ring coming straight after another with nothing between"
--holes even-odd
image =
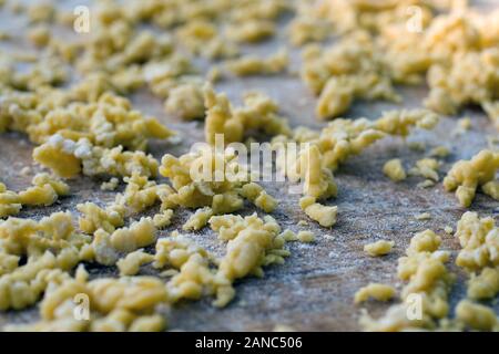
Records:
<instances>
[{"instance_id":1,"label":"flour-dusted wooden table surface visible between the yellow dough crumbs","mask_svg":"<svg viewBox=\"0 0 499 354\"><path fill-rule=\"evenodd\" d=\"M490 1L489 1L490 2ZM285 21L284 21L285 22ZM1 50L33 51L22 39L26 21L12 18L6 10L0 11L0 23L3 29L16 31L18 35L9 43L0 44ZM285 23L283 23L285 25ZM277 48L286 45L285 34L265 44L245 48L246 52L263 55L271 54ZM293 50L293 71L299 69L299 51ZM204 66L203 63L200 63ZM316 98L308 92L296 75L278 75L271 77L234 79L230 77L216 86L225 91L235 103L249 90L261 90L275 98L282 108L282 114L289 117L291 124L322 127L314 117ZM388 108L418 107L426 95L425 87L400 87L404 103L394 105L385 102L358 102L348 117L376 118ZM180 132L180 145L167 142L153 142L151 152L156 158L165 153L179 155L185 153L192 143L202 140L203 123L185 123L169 116L162 108L162 102L152 97L145 90L132 96L134 107L146 114L161 118L165 124ZM460 136L451 136L457 118L469 116L472 129ZM451 148L451 155L446 158L440 176L445 176L454 162L469 158L487 146L486 136L497 135L489 119L479 110L465 110L459 116L442 117L432 132L415 132L408 142L424 142L429 150L431 147L445 145ZM33 145L20 134L0 135L0 179L9 189L20 190L29 186L31 177L40 170L31 158ZM381 171L386 160L399 157L407 166L425 157L425 153L411 150L400 138L385 138L368 148L360 156L349 159L336 171L339 194L328 205L339 208L338 223L332 229L318 227L309 222L308 227L298 227L299 220L306 219L297 206L298 196L284 192L285 185L265 184L267 191L278 199L278 208L274 216L283 229L309 229L317 235L317 241L312 244L289 243L292 256L284 266L267 268L264 279L244 279L236 284L237 295L225 309L216 309L210 304L210 299L198 302L185 302L171 310L169 327L187 331L259 331L272 330L277 324L291 325L303 331L356 331L359 330L359 306L353 304L354 293L369 282L404 284L397 280L397 259L404 254L410 238L415 232L427 228L442 236L442 248L452 251L451 268L458 274L458 282L451 293L455 305L466 293L466 274L454 266L459 244L451 236L446 236L446 226L456 227L456 222L466 211L461 208L454 194L446 192L438 184L428 189L417 188L421 178L410 177L394 184ZM28 176L20 174L26 167L32 167ZM100 190L103 179L80 177L70 180L71 196L61 199L49 208L26 208L20 214L22 218L41 218L59 210L75 211L77 204L96 201L104 204L114 199L114 192ZM120 188L122 189L123 186ZM154 208L150 214L154 214ZM469 210L481 216L493 216L499 220L499 202L478 195ZM254 210L247 208L244 214ZM418 221L415 216L430 212L430 220ZM181 210L175 214L174 222L161 236L181 229L192 211ZM184 232L185 233L185 232ZM200 232L186 232L194 240L214 252L225 248L208 228ZM386 239L395 241L394 252L383 258L369 258L363 252L365 243ZM116 275L114 268L102 268L88 264L92 278ZM144 267L141 274L153 274L151 268ZM383 314L390 305L368 302L365 308L374 315ZM499 305L492 304L499 313ZM7 323L24 323L38 317L38 308L24 311L0 313L0 327Z\"/></svg>"}]
</instances>

